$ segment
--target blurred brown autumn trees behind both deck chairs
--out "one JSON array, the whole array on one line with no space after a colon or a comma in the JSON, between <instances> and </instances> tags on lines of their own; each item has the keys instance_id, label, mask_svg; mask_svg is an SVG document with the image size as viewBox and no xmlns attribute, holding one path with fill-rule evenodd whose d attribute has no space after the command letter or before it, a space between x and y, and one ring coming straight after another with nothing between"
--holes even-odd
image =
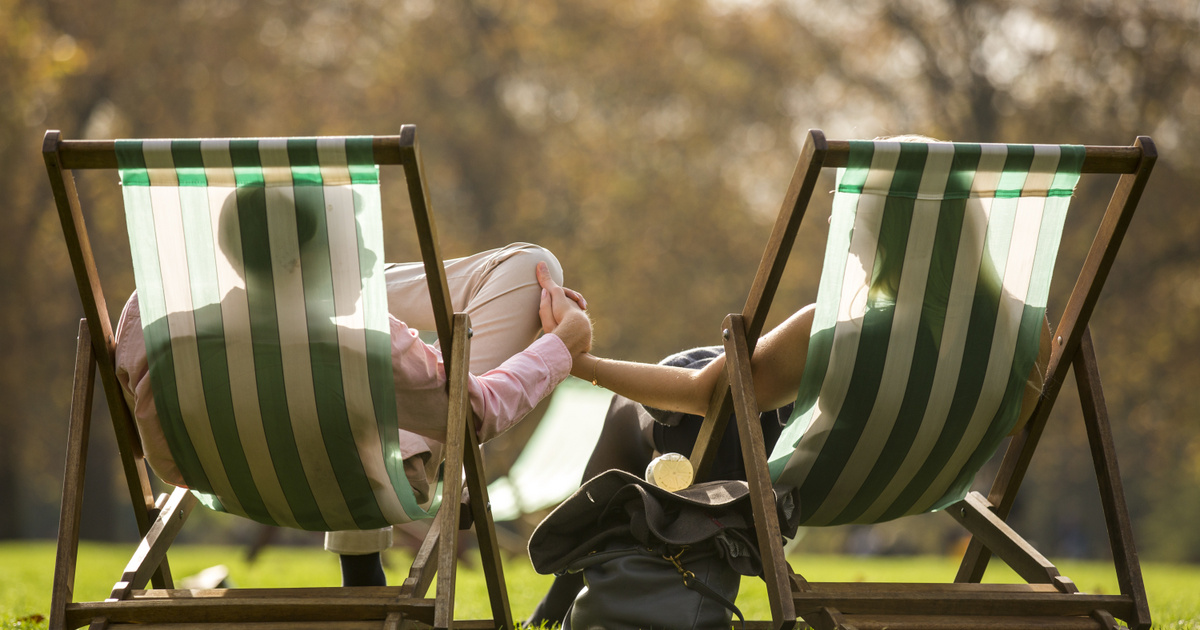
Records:
<instances>
[{"instance_id":1,"label":"blurred brown autumn trees behind both deck chairs","mask_svg":"<svg viewBox=\"0 0 1200 630\"><path fill-rule=\"evenodd\" d=\"M1194 0L0 0L0 539L54 535L82 317L40 156L47 128L306 136L415 124L443 253L550 247L588 296L598 352L646 361L719 342L809 128L1081 144L1147 134L1160 157L1092 330L1141 557L1200 562L1198 42ZM402 176L384 178L389 258L414 259ZM1051 310L1114 182L1079 190ZM115 319L133 288L116 174L86 174L79 188ZM815 299L827 215L818 199L770 323ZM132 540L101 401L84 535ZM1104 557L1073 382L1057 407L1013 520L1051 557ZM191 530L205 540L259 534L197 517L215 523ZM953 547L937 527L840 528L805 545Z\"/></svg>"}]
</instances>

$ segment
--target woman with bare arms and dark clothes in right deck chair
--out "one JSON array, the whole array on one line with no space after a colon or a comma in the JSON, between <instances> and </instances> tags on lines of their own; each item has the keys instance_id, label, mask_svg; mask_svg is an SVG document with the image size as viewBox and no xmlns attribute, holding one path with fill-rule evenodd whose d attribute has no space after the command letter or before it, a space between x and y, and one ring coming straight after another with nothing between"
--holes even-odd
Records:
<instances>
[{"instance_id":1,"label":"woman with bare arms and dark clothes in right deck chair","mask_svg":"<svg viewBox=\"0 0 1200 630\"><path fill-rule=\"evenodd\" d=\"M901 232L888 223L881 226L875 258L862 262L863 272L866 274L869 281L856 301L865 302L863 306L868 310L888 311L895 306L901 276L899 263L902 262L902 256L889 257L888 254L889 252L902 253L904 244L896 242L895 239L900 238L898 234L904 232L906 230ZM983 234L983 230L964 230L964 233ZM956 238L958 234L954 236ZM952 276L953 266L950 264L935 265L925 294L924 307L941 310L942 319L944 319ZM1003 290L1000 274L990 265L984 264L979 278L983 283L980 286L982 293L998 298ZM548 276L540 275L539 281L544 287L553 288L554 286L553 280ZM564 294L550 292L548 295L554 300L563 301L565 306L566 296ZM547 317L546 312L544 304L544 319ZM782 324L763 335L755 348L751 372L757 407L764 410L761 421L768 452L780 436L781 425L791 416L791 409L785 409L785 407L791 406L797 400L808 359L815 312L816 305L800 308ZM878 323L880 320L880 318L856 320L856 325L862 328L860 347L862 344L871 344L872 341L876 343L887 342L889 331L884 330L883 325ZM931 318L931 320L937 320L937 318ZM941 330L922 330L918 334L917 343L936 348L940 337ZM1049 359L1050 325L1049 320L1044 319L1038 355L1026 379L1024 397L1019 412L1015 414L1010 434L1018 433L1032 415L1042 394L1043 374ZM668 431L656 425L652 427L653 422L648 420L655 414L664 418L667 413L653 412L647 408L676 412L677 415L703 416L708 410L713 389L724 368L725 355L712 349L680 353L668 358L664 364L656 365L618 361L588 353L577 356L571 368L572 374L617 394L605 420L605 428L589 461L584 481L607 468L620 468L641 476L646 463L653 457L655 445L659 446L660 452L671 449L684 455L690 454L696 433L690 434L690 440L685 437L667 446L660 434ZM637 403L644 408L640 408ZM733 422L730 424L728 428L734 428ZM647 436L652 432L654 438L659 439L649 439ZM732 434L736 437L736 431ZM732 449L730 442L734 444ZM722 450L714 462L713 479L745 479L740 462L740 448L737 442L726 438L722 439L721 445ZM738 461L733 461L733 457L737 457ZM536 625L542 622L562 620L582 587L582 574L557 577L550 593L535 608L528 623Z\"/></svg>"}]
</instances>

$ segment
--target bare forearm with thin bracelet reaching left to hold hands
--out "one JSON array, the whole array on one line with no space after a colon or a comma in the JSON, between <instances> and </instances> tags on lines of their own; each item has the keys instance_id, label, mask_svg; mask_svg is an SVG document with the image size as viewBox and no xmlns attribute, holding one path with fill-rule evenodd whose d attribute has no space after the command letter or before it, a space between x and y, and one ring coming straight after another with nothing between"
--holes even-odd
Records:
<instances>
[{"instance_id":1,"label":"bare forearm with thin bracelet reaching left to hold hands","mask_svg":"<svg viewBox=\"0 0 1200 630\"><path fill-rule=\"evenodd\" d=\"M703 370L576 356L571 374L650 407L704 415L724 360ZM720 365L716 365L720 364Z\"/></svg>"}]
</instances>

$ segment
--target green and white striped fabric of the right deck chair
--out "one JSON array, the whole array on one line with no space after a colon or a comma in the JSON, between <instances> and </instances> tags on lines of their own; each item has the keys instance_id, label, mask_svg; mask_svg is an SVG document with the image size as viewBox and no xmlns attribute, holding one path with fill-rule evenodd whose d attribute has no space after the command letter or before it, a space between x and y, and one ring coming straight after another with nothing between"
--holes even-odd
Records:
<instances>
[{"instance_id":1,"label":"green and white striped fabric of the right deck chair","mask_svg":"<svg viewBox=\"0 0 1200 630\"><path fill-rule=\"evenodd\" d=\"M796 410L802 523L946 508L1018 420L1082 146L852 142Z\"/></svg>"}]
</instances>

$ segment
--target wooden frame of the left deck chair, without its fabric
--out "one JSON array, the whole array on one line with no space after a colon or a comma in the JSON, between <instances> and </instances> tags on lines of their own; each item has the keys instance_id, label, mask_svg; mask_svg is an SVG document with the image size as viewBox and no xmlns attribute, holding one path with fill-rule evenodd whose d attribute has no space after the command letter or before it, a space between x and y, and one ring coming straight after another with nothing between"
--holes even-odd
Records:
<instances>
[{"instance_id":1,"label":"wooden frame of the left deck chair, without its fabric","mask_svg":"<svg viewBox=\"0 0 1200 630\"><path fill-rule=\"evenodd\" d=\"M79 324L68 428L62 506L59 521L49 626L104 628L124 623L221 623L245 626L269 623L295 628L325 628L337 622L348 628L512 628L512 616L500 565L499 545L491 517L487 486L473 418L467 400L470 323L464 313L455 313L446 287L445 269L438 250L437 228L430 210L428 192L421 170L416 130L406 125L398 136L376 137L372 149L377 164L403 167L409 200L416 224L421 257L428 277L438 337L449 373L449 424L445 450L445 482L442 504L468 505L466 516L458 509L438 511L430 534L418 551L408 578L396 587L331 587L295 589L175 589L167 562L167 550L197 504L184 490L161 494L150 486L140 452L137 426L116 380L114 367L113 324L92 257L84 210L76 191L73 172L78 169L116 169L114 140L64 140L60 132L48 131L42 145L74 269L85 318ZM74 572L78 560L79 518L83 480L88 457L88 434L96 372L116 433L121 466L128 486L137 526L144 536L128 565L104 601L73 601ZM463 503L463 485L455 470L466 469L468 499ZM454 619L455 563L457 530L470 527L473 517L482 557L492 618L476 622ZM437 596L426 596L434 577ZM154 588L146 588L151 583Z\"/></svg>"}]
</instances>

